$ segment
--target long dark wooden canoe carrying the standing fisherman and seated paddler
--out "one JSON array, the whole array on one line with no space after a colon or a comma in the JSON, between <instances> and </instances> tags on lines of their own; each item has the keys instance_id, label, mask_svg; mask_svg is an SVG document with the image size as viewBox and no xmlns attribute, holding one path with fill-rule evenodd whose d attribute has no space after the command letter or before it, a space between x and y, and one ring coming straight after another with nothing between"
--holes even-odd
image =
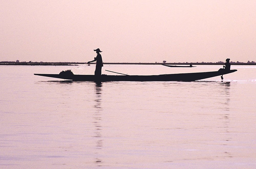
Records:
<instances>
[{"instance_id":1,"label":"long dark wooden canoe carrying the standing fisherman and seated paddler","mask_svg":"<svg viewBox=\"0 0 256 169\"><path fill-rule=\"evenodd\" d=\"M34 74L74 81L195 81L236 72L237 70L219 69L215 72L179 73L163 75L74 75L74 74Z\"/></svg>"}]
</instances>

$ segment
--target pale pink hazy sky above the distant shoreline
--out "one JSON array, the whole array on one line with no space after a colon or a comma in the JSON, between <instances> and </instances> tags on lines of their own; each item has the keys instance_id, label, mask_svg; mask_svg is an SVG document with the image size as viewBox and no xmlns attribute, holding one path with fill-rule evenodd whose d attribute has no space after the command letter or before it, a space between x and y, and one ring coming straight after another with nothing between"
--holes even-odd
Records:
<instances>
[{"instance_id":1,"label":"pale pink hazy sky above the distant shoreline","mask_svg":"<svg viewBox=\"0 0 256 169\"><path fill-rule=\"evenodd\" d=\"M256 1L20 1L0 5L0 61L256 61Z\"/></svg>"}]
</instances>

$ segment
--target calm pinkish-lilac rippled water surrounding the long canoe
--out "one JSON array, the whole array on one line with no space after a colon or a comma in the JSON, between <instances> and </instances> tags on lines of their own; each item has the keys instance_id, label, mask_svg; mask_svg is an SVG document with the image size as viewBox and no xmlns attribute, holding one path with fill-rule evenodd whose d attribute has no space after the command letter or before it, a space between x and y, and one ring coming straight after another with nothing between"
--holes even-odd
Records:
<instances>
[{"instance_id":1,"label":"calm pinkish-lilac rippled water surrounding the long canoe","mask_svg":"<svg viewBox=\"0 0 256 169\"><path fill-rule=\"evenodd\" d=\"M195 82L72 82L0 66L0 168L256 168L256 66ZM104 65L125 74L221 66ZM113 73L103 71L103 74Z\"/></svg>"}]
</instances>

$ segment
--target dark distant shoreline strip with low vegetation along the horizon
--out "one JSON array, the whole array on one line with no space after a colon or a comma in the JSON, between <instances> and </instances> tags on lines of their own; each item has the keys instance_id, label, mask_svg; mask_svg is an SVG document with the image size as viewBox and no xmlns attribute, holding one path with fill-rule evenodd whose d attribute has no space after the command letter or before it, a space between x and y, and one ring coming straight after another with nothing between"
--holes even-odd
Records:
<instances>
[{"instance_id":1,"label":"dark distant shoreline strip with low vegetation along the horizon","mask_svg":"<svg viewBox=\"0 0 256 169\"><path fill-rule=\"evenodd\" d=\"M230 62L231 65L256 65L256 62L248 61L247 63L244 62ZM78 66L78 64L86 64L86 62L16 62L14 61L2 61L0 65L30 65L30 66ZM95 63L90 63L95 64ZM183 62L183 63L103 63L103 64L130 64L130 65L223 65L225 62Z\"/></svg>"}]
</instances>

